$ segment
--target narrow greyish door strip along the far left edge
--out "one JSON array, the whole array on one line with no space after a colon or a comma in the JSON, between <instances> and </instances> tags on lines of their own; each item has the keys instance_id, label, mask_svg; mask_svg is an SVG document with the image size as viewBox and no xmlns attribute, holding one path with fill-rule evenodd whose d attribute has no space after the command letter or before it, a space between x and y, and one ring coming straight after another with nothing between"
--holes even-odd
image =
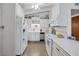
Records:
<instances>
[{"instance_id":1,"label":"narrow greyish door strip along the far left edge","mask_svg":"<svg viewBox=\"0 0 79 59\"><path fill-rule=\"evenodd\" d=\"M2 4L0 4L0 56L2 55Z\"/></svg>"}]
</instances>

